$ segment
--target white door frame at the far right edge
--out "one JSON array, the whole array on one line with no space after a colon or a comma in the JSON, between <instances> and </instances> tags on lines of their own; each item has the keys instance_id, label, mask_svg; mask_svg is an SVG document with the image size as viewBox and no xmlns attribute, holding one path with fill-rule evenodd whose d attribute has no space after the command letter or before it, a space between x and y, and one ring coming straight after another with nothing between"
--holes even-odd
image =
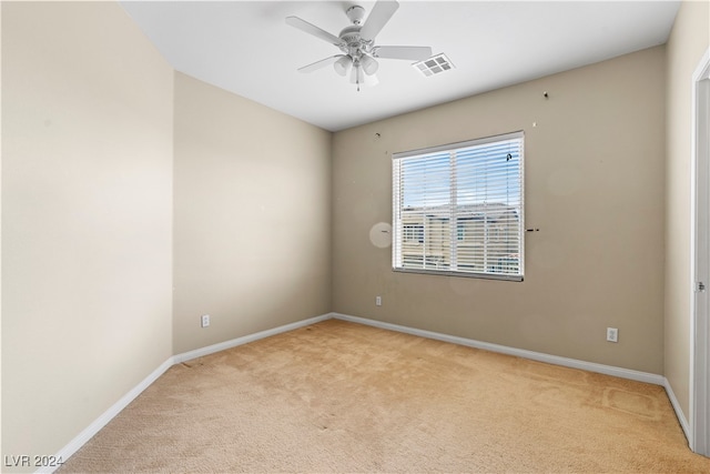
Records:
<instances>
[{"instance_id":1,"label":"white door frame at the far right edge","mask_svg":"<svg viewBox=\"0 0 710 474\"><path fill-rule=\"evenodd\" d=\"M710 456L710 49L692 75L691 120L689 442Z\"/></svg>"}]
</instances>

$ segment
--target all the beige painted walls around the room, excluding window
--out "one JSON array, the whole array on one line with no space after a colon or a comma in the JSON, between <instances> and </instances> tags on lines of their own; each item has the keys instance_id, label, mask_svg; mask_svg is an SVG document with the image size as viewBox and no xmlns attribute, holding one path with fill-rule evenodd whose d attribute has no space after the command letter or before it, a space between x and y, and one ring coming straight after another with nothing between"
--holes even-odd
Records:
<instances>
[{"instance_id":1,"label":"all the beige painted walls around the room, excluding window","mask_svg":"<svg viewBox=\"0 0 710 474\"><path fill-rule=\"evenodd\" d=\"M114 3L1 12L3 456L57 453L173 354L328 311L665 370L687 413L708 2L667 48L335 135L174 73ZM525 282L392 272L392 153L516 130Z\"/></svg>"}]
</instances>

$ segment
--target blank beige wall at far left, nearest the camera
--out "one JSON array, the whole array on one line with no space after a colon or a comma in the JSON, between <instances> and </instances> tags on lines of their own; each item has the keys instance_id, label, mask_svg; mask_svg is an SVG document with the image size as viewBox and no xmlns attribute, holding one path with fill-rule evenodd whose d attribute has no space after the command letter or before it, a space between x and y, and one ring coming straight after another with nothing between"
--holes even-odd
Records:
<instances>
[{"instance_id":1,"label":"blank beige wall at far left, nearest the camera","mask_svg":"<svg viewBox=\"0 0 710 474\"><path fill-rule=\"evenodd\" d=\"M172 74L115 3L2 2L3 460L172 355Z\"/></svg>"}]
</instances>

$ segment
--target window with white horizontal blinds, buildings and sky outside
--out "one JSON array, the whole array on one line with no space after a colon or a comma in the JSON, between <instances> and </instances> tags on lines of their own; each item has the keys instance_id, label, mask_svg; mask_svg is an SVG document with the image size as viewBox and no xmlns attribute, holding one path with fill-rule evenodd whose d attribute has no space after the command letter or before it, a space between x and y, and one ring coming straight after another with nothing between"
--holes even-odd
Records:
<instances>
[{"instance_id":1,"label":"window with white horizontal blinds, buildings and sky outside","mask_svg":"<svg viewBox=\"0 0 710 474\"><path fill-rule=\"evenodd\" d=\"M521 281L523 132L393 155L393 269Z\"/></svg>"}]
</instances>

